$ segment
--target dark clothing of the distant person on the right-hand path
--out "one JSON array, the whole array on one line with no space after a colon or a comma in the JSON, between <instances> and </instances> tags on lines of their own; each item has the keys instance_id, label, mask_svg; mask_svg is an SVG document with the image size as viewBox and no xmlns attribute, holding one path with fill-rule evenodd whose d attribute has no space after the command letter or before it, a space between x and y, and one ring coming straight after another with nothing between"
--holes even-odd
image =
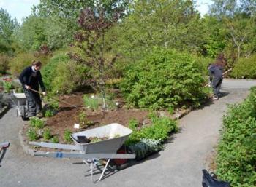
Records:
<instances>
[{"instance_id":1,"label":"dark clothing of the distant person on the right-hand path","mask_svg":"<svg viewBox=\"0 0 256 187\"><path fill-rule=\"evenodd\" d=\"M210 74L211 86L214 89L214 97L219 98L219 90L222 85L222 67L217 65L210 65L208 68Z\"/></svg>"}]
</instances>

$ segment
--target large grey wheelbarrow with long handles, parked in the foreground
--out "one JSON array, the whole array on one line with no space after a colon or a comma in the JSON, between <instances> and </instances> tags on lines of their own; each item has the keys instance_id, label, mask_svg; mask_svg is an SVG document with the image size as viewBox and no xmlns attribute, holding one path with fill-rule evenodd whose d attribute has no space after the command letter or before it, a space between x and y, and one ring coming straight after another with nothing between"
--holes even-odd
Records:
<instances>
[{"instance_id":1,"label":"large grey wheelbarrow with long handles, parked in the foreground","mask_svg":"<svg viewBox=\"0 0 256 187\"><path fill-rule=\"evenodd\" d=\"M45 142L30 142L29 144L34 146L42 146L47 148L59 148L69 149L73 152L43 152L38 151L34 153L34 156L47 156L54 158L81 158L87 159L91 162L91 180L95 165L95 160L106 159L105 167L102 170L102 174L99 177L100 181L102 176L110 163L110 159L135 159L135 154L127 154L122 151L118 154L118 149L124 144L129 135L132 133L127 127L121 124L113 123L107 124L102 127L97 127L91 130L85 130L82 132L75 132L71 135L75 145L60 144L60 143L45 143ZM98 138L97 142L86 143L89 138ZM100 139L105 140L100 140ZM106 139L107 138L107 139Z\"/></svg>"}]
</instances>

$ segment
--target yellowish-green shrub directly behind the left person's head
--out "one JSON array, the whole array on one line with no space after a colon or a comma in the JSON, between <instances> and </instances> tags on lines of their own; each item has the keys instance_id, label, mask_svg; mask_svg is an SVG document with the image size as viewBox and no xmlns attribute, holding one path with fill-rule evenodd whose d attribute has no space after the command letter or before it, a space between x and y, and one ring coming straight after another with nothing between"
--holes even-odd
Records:
<instances>
[{"instance_id":1,"label":"yellowish-green shrub directly behind the left person's head","mask_svg":"<svg viewBox=\"0 0 256 187\"><path fill-rule=\"evenodd\" d=\"M10 63L10 71L12 75L19 76L24 68L31 65L35 57L32 53L20 53L12 59Z\"/></svg>"}]
</instances>

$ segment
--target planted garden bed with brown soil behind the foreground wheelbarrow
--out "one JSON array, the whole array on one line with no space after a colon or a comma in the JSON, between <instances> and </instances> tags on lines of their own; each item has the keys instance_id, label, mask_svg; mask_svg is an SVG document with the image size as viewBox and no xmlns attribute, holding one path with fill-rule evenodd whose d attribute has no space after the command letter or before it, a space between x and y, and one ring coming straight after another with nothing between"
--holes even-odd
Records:
<instances>
[{"instance_id":1,"label":"planted garden bed with brown soil behind the foreground wheelbarrow","mask_svg":"<svg viewBox=\"0 0 256 187\"><path fill-rule=\"evenodd\" d=\"M173 119L179 118L178 116L182 116L189 111L182 110L178 114L170 115L167 111L152 113L143 109L128 109L124 106L107 111L102 109L93 110L89 106L83 105L84 98L81 93L62 96L60 99L64 103L59 103L59 109L54 116L45 117L41 120L35 119L35 121L40 121L38 123L30 120L28 124L24 125L21 132L23 143L28 144L29 139L31 140L31 137L37 134L34 138L37 142L72 144L73 142L70 138L72 132L118 123L133 130L126 144L132 146L132 150L136 152L136 155L139 155L137 159L142 159L162 148L160 145L167 140L171 132L176 132L177 130L176 122ZM78 107L72 107L67 103ZM81 118L83 119L82 121ZM41 121L43 121L43 125L40 124ZM80 128L75 128L75 124L80 124ZM34 129L34 132L29 135L28 132L31 129ZM45 138L46 131L48 131L48 138ZM29 147L33 148L34 151L52 151L49 148ZM146 151L140 153L141 148Z\"/></svg>"}]
</instances>

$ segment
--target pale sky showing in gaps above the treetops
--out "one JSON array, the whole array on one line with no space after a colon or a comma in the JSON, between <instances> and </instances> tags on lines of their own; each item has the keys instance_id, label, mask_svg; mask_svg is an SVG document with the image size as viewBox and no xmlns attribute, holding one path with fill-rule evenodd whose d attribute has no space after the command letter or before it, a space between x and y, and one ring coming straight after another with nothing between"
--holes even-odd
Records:
<instances>
[{"instance_id":1,"label":"pale sky showing in gaps above the treetops","mask_svg":"<svg viewBox=\"0 0 256 187\"><path fill-rule=\"evenodd\" d=\"M23 17L31 14L33 4L39 4L39 0L0 0L0 7L6 9L12 18L16 17L19 23L22 22ZM197 0L197 9L201 15L208 12L209 4L211 4L211 0Z\"/></svg>"}]
</instances>

